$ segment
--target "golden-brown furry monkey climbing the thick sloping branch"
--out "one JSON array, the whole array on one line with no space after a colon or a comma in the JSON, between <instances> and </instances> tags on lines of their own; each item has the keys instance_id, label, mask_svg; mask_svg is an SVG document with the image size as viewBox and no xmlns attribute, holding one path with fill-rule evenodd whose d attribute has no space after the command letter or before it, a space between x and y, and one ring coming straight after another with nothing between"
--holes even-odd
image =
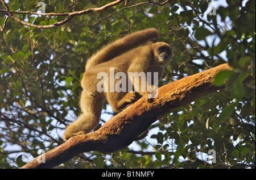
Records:
<instances>
[{"instance_id":1,"label":"golden-brown furry monkey climbing the thick sloping branch","mask_svg":"<svg viewBox=\"0 0 256 180\"><path fill-rule=\"evenodd\" d=\"M159 32L155 28L134 32L106 45L94 54L85 65L85 72L81 79L82 92L80 95L80 108L82 114L73 123L67 125L63 139L68 140L72 136L89 133L99 123L104 99L108 101L113 110L118 112L128 104L134 103L144 95L148 95L148 102L154 98L156 89L154 83L147 82L147 87L153 90L142 91L141 85L145 81L142 77L133 77L129 81L129 73L152 73L158 75L157 82L164 73L164 66L170 62L172 57L171 46L167 43L157 42ZM143 45L145 44L145 45ZM142 46L140 46L142 45ZM122 73L125 75L123 87L124 91L111 91L110 76L111 68L114 68L114 75ZM102 84L105 89L98 91L99 82L102 79L97 78L98 74L105 73L108 81ZM156 76L155 76L156 77ZM148 76L147 76L148 78ZM139 83L135 84L135 81ZM117 85L119 79L114 79L114 85ZM137 81L137 82L138 82ZM131 85L131 90L127 86ZM142 134L139 139L144 138Z\"/></svg>"}]
</instances>

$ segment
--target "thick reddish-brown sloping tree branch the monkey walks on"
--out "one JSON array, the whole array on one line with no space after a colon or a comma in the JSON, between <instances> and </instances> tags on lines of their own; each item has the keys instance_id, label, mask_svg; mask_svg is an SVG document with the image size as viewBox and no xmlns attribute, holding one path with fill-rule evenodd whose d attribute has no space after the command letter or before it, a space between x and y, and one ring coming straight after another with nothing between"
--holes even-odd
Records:
<instances>
[{"instance_id":1,"label":"thick reddish-brown sloping tree branch the monkey walks on","mask_svg":"<svg viewBox=\"0 0 256 180\"><path fill-rule=\"evenodd\" d=\"M214 77L218 72L229 69L231 67L228 64L222 64L159 87L158 97L152 103L148 103L146 97L142 97L97 131L71 137L64 144L36 157L22 168L52 168L82 152L96 150L106 153L125 148L160 117L221 89L222 87L213 86ZM45 163L40 163L42 157L45 158Z\"/></svg>"}]
</instances>

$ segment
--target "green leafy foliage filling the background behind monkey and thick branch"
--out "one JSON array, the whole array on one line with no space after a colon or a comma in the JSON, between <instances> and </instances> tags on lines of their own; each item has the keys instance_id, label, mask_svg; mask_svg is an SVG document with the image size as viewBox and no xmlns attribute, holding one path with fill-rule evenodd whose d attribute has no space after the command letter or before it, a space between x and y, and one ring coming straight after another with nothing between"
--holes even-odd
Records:
<instances>
[{"instance_id":1,"label":"green leafy foliage filling the background behind monkey and thick branch","mask_svg":"<svg viewBox=\"0 0 256 180\"><path fill-rule=\"evenodd\" d=\"M36 12L38 2L9 1L7 6ZM46 12L108 3L44 2ZM138 2L144 1L127 6ZM119 36L149 27L157 28L160 41L174 51L160 85L228 62L233 69L214 81L225 88L159 119L146 140L133 144L138 152L129 146L112 154L84 153L58 168L255 168L255 1L226 1L216 15L207 14L209 2L148 3L114 14L125 7L121 3L46 30L9 18L0 32L0 168L20 167L39 149L63 143L65 124L80 114L80 80L88 58ZM15 16L39 25L65 18ZM1 27L5 18L0 12ZM216 162L208 160L209 150L216 152Z\"/></svg>"}]
</instances>

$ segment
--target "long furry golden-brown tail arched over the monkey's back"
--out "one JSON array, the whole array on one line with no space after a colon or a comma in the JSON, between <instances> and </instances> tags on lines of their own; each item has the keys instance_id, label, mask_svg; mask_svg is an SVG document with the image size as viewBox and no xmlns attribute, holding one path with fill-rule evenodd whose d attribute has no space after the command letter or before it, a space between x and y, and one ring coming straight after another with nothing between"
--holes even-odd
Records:
<instances>
[{"instance_id":1,"label":"long furry golden-brown tail arched over the monkey's back","mask_svg":"<svg viewBox=\"0 0 256 180\"><path fill-rule=\"evenodd\" d=\"M102 62L112 60L114 57L122 55L122 53L130 51L152 39L155 41L158 41L159 39L159 32L155 28L138 31L118 39L117 41L114 41L114 43L102 48L96 55L93 55L87 62L85 70L90 69L97 64L101 64Z\"/></svg>"}]
</instances>

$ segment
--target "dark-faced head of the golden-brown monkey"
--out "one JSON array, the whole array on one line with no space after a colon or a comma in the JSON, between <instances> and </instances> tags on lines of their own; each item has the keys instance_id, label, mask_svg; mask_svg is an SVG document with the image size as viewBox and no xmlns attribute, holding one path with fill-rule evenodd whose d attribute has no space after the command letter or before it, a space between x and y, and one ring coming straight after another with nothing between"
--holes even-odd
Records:
<instances>
[{"instance_id":1,"label":"dark-faced head of the golden-brown monkey","mask_svg":"<svg viewBox=\"0 0 256 180\"><path fill-rule=\"evenodd\" d=\"M167 43L159 42L150 44L150 48L153 52L154 64L166 65L170 62L172 57L171 46Z\"/></svg>"}]
</instances>

